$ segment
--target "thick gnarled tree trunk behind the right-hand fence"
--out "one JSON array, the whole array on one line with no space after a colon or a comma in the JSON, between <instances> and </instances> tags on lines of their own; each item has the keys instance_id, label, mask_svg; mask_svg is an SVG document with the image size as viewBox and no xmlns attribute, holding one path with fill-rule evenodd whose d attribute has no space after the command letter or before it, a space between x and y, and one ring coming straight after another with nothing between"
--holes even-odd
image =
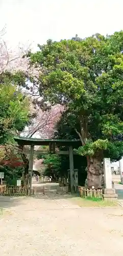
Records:
<instances>
[{"instance_id":1,"label":"thick gnarled tree trunk behind the right-hand fence","mask_svg":"<svg viewBox=\"0 0 123 256\"><path fill-rule=\"evenodd\" d=\"M102 155L87 156L87 186L95 189L102 188L103 166Z\"/></svg>"}]
</instances>

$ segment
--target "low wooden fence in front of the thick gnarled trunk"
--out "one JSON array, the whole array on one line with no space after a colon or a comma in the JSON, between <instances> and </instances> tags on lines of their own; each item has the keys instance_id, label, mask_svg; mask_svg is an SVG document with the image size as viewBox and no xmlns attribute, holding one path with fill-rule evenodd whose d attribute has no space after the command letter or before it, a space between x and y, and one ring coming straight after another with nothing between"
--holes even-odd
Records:
<instances>
[{"instance_id":1,"label":"low wooden fence in front of the thick gnarled trunk","mask_svg":"<svg viewBox=\"0 0 123 256\"><path fill-rule=\"evenodd\" d=\"M102 189L89 189L85 187L78 186L78 190L81 197L94 197L94 198L103 198L103 191Z\"/></svg>"}]
</instances>

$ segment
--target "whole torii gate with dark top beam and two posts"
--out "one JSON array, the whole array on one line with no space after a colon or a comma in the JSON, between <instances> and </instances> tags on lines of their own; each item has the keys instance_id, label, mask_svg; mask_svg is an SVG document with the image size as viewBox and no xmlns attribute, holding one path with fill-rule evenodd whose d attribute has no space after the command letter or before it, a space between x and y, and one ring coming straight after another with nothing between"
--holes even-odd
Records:
<instances>
[{"instance_id":1,"label":"whole torii gate with dark top beam and two posts","mask_svg":"<svg viewBox=\"0 0 123 256\"><path fill-rule=\"evenodd\" d=\"M29 157L29 170L31 172L31 182L30 182L30 189L32 189L32 173L33 173L33 157L34 154L41 153L41 154L59 154L59 155L69 155L69 169L70 169L70 189L73 191L74 186L74 166L73 166L73 147L80 146L80 140L62 140L62 139L36 139L36 138L25 138L25 137L15 137L14 140L18 143L18 145L30 145L30 150L26 150L27 154L30 154ZM42 151L35 151L34 146L49 146L48 152ZM58 151L56 147L58 146L68 146L68 151Z\"/></svg>"}]
</instances>

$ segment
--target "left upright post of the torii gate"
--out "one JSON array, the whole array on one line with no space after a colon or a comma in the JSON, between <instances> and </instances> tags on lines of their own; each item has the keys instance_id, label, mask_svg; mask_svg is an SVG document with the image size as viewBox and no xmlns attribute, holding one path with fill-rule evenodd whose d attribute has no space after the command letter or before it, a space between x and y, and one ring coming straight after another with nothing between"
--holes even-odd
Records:
<instances>
[{"instance_id":1,"label":"left upright post of the torii gate","mask_svg":"<svg viewBox=\"0 0 123 256\"><path fill-rule=\"evenodd\" d=\"M30 147L30 158L29 158L30 194L31 194L31 191L32 191L33 156L34 156L34 145L31 145L31 147Z\"/></svg>"}]
</instances>

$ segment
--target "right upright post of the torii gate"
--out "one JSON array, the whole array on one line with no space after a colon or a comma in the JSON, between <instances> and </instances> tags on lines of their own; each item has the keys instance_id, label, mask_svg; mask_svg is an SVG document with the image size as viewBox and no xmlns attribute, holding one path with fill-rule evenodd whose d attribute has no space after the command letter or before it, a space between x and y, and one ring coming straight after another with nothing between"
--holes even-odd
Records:
<instances>
[{"instance_id":1,"label":"right upright post of the torii gate","mask_svg":"<svg viewBox=\"0 0 123 256\"><path fill-rule=\"evenodd\" d=\"M74 167L73 167L73 151L72 146L69 146L69 169L70 169L70 190L74 192Z\"/></svg>"}]
</instances>

